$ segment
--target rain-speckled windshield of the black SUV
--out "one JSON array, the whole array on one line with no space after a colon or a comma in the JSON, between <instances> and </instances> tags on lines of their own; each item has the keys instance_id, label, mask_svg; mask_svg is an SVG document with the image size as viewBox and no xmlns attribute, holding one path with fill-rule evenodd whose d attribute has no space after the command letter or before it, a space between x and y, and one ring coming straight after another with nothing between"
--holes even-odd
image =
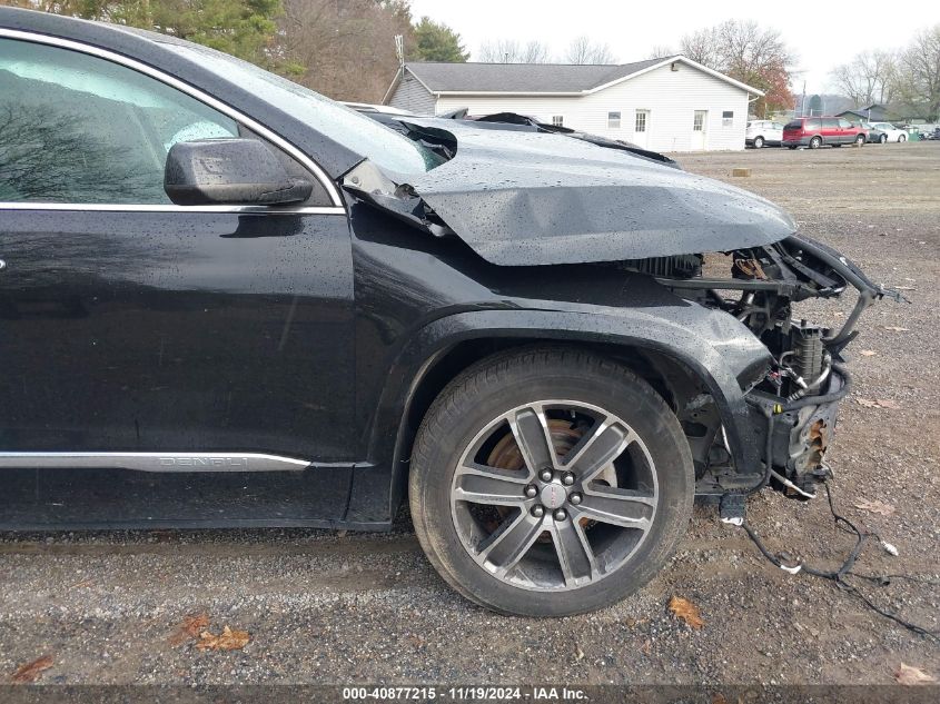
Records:
<instances>
[{"instance_id":1,"label":"rain-speckled windshield of the black SUV","mask_svg":"<svg viewBox=\"0 0 940 704\"><path fill-rule=\"evenodd\" d=\"M195 44L167 42L164 47L224 76L382 169L415 173L445 161L375 120L247 61Z\"/></svg>"}]
</instances>

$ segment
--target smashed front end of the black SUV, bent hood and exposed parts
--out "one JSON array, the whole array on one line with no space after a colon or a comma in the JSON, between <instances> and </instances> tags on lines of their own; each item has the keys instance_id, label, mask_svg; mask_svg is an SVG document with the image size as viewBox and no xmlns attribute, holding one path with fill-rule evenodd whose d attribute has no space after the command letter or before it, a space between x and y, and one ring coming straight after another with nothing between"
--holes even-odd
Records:
<instances>
[{"instance_id":1,"label":"smashed front end of the black SUV, bent hood and exposed parts","mask_svg":"<svg viewBox=\"0 0 940 704\"><path fill-rule=\"evenodd\" d=\"M827 448L851 387L842 351L865 308L901 296L796 235L770 201L675 163L597 141L446 122L399 125L439 153L442 166L403 176L364 161L344 178L347 192L431 235L458 237L497 267L615 267L654 279L676 301L732 316L760 340L753 347L765 348L753 357L756 378L739 377L729 391L734 409L720 413L702 389L673 394L696 493L721 496L723 506L736 498L740 510L744 496L771 483L812 497L829 475ZM858 300L838 328L793 319L795 304L849 289ZM677 310L663 314L670 325L682 319ZM740 335L702 338L719 355L740 343Z\"/></svg>"}]
</instances>

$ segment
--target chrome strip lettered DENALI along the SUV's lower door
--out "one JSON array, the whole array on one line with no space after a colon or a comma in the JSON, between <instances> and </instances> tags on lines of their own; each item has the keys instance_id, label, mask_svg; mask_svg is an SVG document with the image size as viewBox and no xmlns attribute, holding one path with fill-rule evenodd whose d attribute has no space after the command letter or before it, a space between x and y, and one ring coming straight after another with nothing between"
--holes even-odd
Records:
<instances>
[{"instance_id":1,"label":"chrome strip lettered DENALI along the SUV's lower door","mask_svg":"<svg viewBox=\"0 0 940 704\"><path fill-rule=\"evenodd\" d=\"M0 469L303 472L307 459L264 453L0 453Z\"/></svg>"}]
</instances>

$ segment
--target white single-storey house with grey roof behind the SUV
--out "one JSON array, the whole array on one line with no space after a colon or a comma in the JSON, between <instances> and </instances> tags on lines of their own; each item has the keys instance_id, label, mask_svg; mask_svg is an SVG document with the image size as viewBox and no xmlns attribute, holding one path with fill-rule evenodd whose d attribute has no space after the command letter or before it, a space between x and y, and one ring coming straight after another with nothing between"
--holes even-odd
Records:
<instances>
[{"instance_id":1,"label":"white single-storey house with grey roof behind the SUV","mask_svg":"<svg viewBox=\"0 0 940 704\"><path fill-rule=\"evenodd\" d=\"M743 149L763 92L682 56L620 66L406 63L386 105L420 115L467 108L623 139L654 151Z\"/></svg>"}]
</instances>

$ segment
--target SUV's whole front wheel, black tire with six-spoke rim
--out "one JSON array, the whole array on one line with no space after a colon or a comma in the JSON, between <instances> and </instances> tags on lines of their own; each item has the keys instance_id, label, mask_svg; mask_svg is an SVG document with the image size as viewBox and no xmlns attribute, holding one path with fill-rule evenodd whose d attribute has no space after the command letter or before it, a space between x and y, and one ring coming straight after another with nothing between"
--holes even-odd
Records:
<instances>
[{"instance_id":1,"label":"SUV's whole front wheel, black tire with six-spoke rim","mask_svg":"<svg viewBox=\"0 0 940 704\"><path fill-rule=\"evenodd\" d=\"M600 355L526 348L442 391L415 440L409 502L457 592L563 616L649 582L689 524L694 485L679 420L646 381Z\"/></svg>"}]
</instances>

